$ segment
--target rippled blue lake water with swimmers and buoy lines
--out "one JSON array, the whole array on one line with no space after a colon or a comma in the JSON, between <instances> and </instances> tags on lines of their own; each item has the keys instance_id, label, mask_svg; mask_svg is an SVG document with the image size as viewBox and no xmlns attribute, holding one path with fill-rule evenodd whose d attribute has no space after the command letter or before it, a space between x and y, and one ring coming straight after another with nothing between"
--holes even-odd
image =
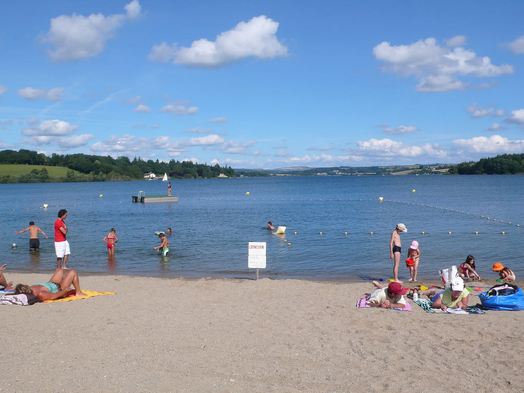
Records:
<instances>
[{"instance_id":1,"label":"rippled blue lake water with swimmers and buoy lines","mask_svg":"<svg viewBox=\"0 0 524 393\"><path fill-rule=\"evenodd\" d=\"M132 203L131 195L139 190L165 194L167 183L1 184L0 249L8 268L52 272L53 222L59 209L67 209L68 266L79 272L253 278L247 244L267 242L267 268L260 277L389 278L389 239L401 222L409 230L401 234L401 279L409 278L403 260L412 240L421 250L419 278L436 278L439 269L463 263L468 254L475 256L481 277L497 278L491 271L495 261L519 276L524 274L523 186L522 176L173 180L178 203L141 204ZM379 196L384 202L378 202ZM41 209L44 203L48 209ZM41 237L39 252L29 252L29 232L14 233L29 221L49 236ZM267 221L287 226L286 235L271 235ZM114 260L102 242L111 227L119 238ZM167 227L173 230L170 255L161 257L153 250L159 245L154 232ZM11 248L12 243L18 247Z\"/></svg>"}]
</instances>

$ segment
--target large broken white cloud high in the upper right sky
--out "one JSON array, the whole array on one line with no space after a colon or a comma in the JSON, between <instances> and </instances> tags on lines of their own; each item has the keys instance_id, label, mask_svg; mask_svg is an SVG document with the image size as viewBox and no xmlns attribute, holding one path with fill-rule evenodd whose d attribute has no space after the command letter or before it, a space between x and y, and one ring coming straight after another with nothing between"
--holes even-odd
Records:
<instances>
[{"instance_id":1,"label":"large broken white cloud high in the upper right sky","mask_svg":"<svg viewBox=\"0 0 524 393\"><path fill-rule=\"evenodd\" d=\"M454 37L450 41L457 43L460 39ZM494 65L489 57L479 57L471 49L462 46L441 47L434 38L398 46L391 46L384 41L373 48L373 55L383 62L382 69L385 72L395 72L400 77L414 75L419 80L416 90L420 92L465 90L472 87L471 82L459 80L459 75L492 78L514 73L512 65ZM489 86L485 83L474 87Z\"/></svg>"}]
</instances>

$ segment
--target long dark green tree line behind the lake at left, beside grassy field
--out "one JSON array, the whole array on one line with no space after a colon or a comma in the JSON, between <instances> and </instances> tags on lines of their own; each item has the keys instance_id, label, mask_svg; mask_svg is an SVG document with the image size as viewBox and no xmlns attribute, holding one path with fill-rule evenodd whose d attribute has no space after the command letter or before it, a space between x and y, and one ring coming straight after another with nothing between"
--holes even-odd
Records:
<instances>
[{"instance_id":1,"label":"long dark green tree line behind the lake at left, beside grassy field","mask_svg":"<svg viewBox=\"0 0 524 393\"><path fill-rule=\"evenodd\" d=\"M66 155L53 153L51 157L48 157L37 151L26 149L0 151L1 164L46 165L70 169L67 176L62 178L51 178L47 173L32 173L38 172L34 170L17 177L21 178L17 180L23 182L137 180L143 179L144 173L155 173L157 176L167 173L169 177L174 179L209 179L219 176L220 173L224 173L227 177L236 177L236 173L231 167L221 167L219 164L211 166L207 163L199 164L198 162L176 161L174 159L169 162L159 161L158 159L156 161L145 161L140 157L130 160L125 156L115 159L111 156L92 156L83 153ZM82 174L77 176L74 171ZM6 178L6 176L3 178ZM15 177L11 176L10 178Z\"/></svg>"}]
</instances>

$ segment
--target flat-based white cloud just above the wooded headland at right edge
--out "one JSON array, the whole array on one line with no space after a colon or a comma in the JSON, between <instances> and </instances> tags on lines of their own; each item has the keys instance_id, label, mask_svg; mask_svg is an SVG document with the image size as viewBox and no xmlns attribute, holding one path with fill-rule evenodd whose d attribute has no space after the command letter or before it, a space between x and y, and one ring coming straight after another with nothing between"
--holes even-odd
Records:
<instances>
[{"instance_id":1,"label":"flat-based white cloud just above the wooded headland at right edge","mask_svg":"<svg viewBox=\"0 0 524 393\"><path fill-rule=\"evenodd\" d=\"M490 137L477 136L471 139L455 139L453 146L459 154L502 154L521 153L524 151L524 140L509 140L500 135Z\"/></svg>"}]
</instances>

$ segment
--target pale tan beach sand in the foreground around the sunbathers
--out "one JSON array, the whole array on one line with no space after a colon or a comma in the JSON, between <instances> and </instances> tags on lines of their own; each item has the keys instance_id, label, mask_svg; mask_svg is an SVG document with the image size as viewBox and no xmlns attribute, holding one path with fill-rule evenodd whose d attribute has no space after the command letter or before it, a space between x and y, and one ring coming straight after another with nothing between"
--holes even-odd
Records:
<instances>
[{"instance_id":1,"label":"pale tan beach sand in the foreground around the sunbathers","mask_svg":"<svg viewBox=\"0 0 524 393\"><path fill-rule=\"evenodd\" d=\"M370 282L82 276L81 286L117 294L0 305L0 390L524 389L524 311L356 309Z\"/></svg>"}]
</instances>

